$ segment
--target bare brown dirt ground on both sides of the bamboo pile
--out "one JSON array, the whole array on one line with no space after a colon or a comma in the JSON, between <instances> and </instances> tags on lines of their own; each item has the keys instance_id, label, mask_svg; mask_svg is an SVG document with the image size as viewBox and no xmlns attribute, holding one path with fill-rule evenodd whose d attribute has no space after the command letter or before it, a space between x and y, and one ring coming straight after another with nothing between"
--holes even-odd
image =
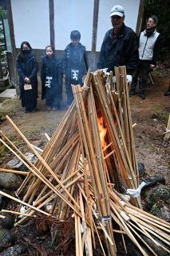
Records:
<instances>
[{"instance_id":1,"label":"bare brown dirt ground on both sides of the bamboo pile","mask_svg":"<svg viewBox=\"0 0 170 256\"><path fill-rule=\"evenodd\" d=\"M136 144L137 162L143 162L148 175L163 174L166 178L166 185L170 182L170 144L164 142L164 128L168 123L170 113L170 97L165 97L164 92L168 90L170 78L154 77L154 85L149 84L146 90L146 99L141 100L136 95L130 98L132 122L134 127L134 137ZM8 114L19 130L25 134L26 138L35 146L44 148L47 139L45 133L52 136L66 109L64 104L61 110L45 110L45 102L39 98L38 111L25 114L21 110L20 101L15 99L5 102L0 110L2 114ZM22 147L22 142L18 142L11 129L9 122L2 118L0 129L13 141ZM23 150L26 150L23 145ZM13 156L6 150L0 150L0 166L4 166L6 161Z\"/></svg>"}]
</instances>

